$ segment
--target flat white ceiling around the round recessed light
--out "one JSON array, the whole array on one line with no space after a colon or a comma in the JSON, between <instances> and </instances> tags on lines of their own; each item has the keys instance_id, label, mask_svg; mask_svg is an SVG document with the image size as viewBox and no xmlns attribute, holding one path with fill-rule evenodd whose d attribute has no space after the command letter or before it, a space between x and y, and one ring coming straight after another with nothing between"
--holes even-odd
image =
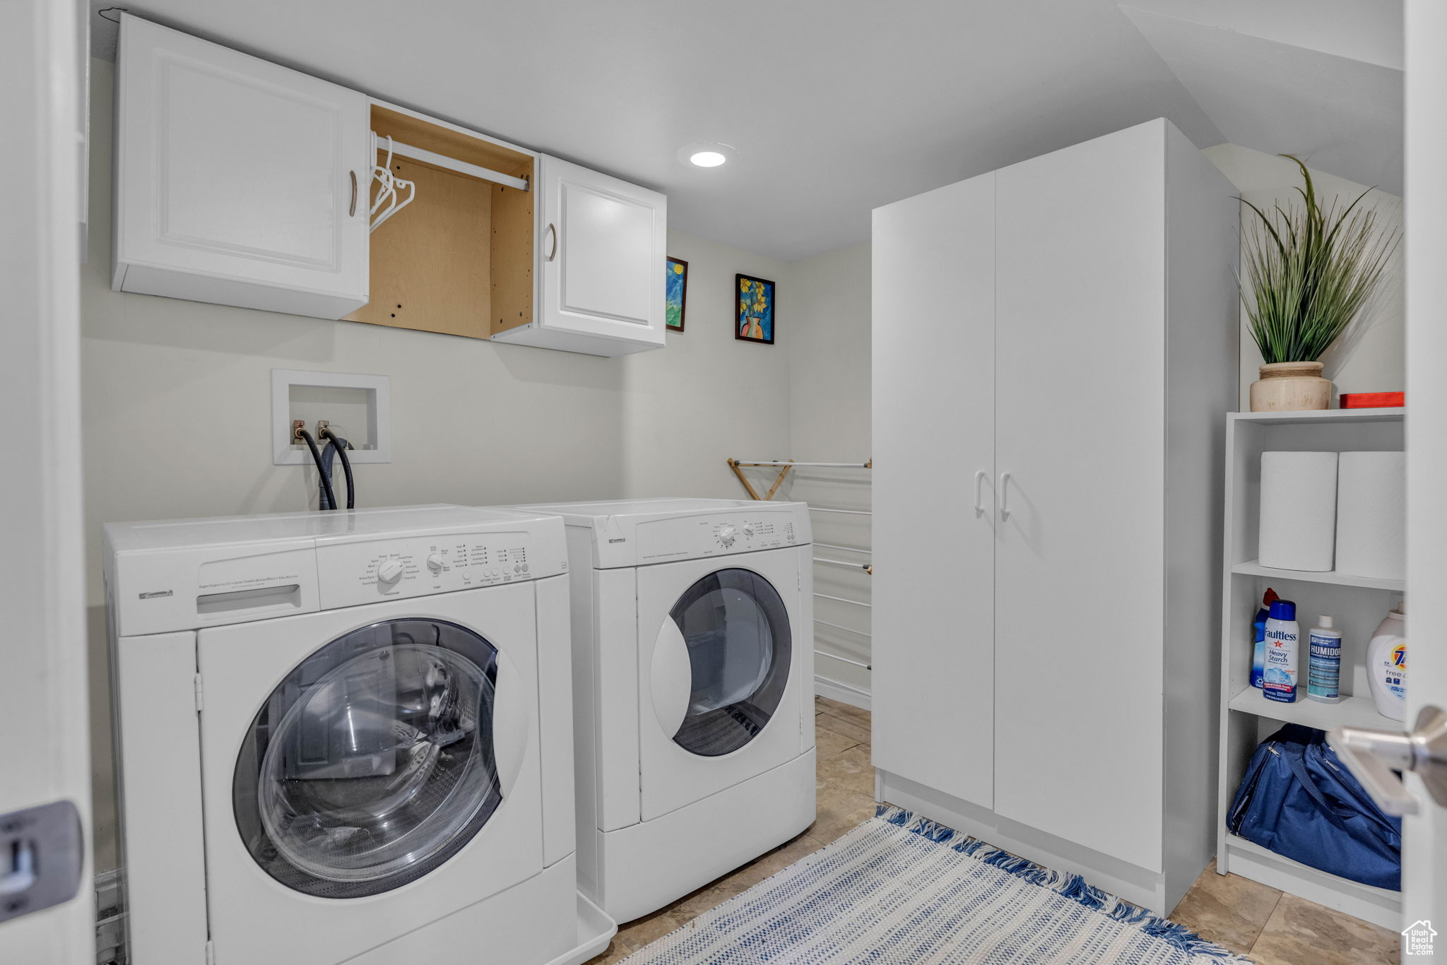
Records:
<instances>
[{"instance_id":1,"label":"flat white ceiling around the round recessed light","mask_svg":"<svg viewBox=\"0 0 1447 965\"><path fill-rule=\"evenodd\" d=\"M1272 6L1341 7L1349 27L1378 30L1370 13L1398 3ZM1145 6L1260 19L1249 0ZM867 240L880 204L1153 117L1202 148L1224 140L1116 0L136 0L127 9L657 188L669 194L671 227L784 260ZM96 25L103 52L114 35ZM1362 32L1325 30L1343 43ZM1378 46L1391 55L1391 43ZM677 149L699 140L734 145L739 158L682 165Z\"/></svg>"}]
</instances>

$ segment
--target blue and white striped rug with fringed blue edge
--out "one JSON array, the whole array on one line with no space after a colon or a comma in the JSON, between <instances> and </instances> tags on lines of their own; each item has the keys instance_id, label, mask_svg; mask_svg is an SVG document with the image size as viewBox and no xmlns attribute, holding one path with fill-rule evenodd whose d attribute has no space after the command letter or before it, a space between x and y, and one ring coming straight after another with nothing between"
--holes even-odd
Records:
<instances>
[{"instance_id":1,"label":"blue and white striped rug with fringed blue edge","mask_svg":"<svg viewBox=\"0 0 1447 965\"><path fill-rule=\"evenodd\" d=\"M1224 965L1185 927L897 807L621 965Z\"/></svg>"}]
</instances>

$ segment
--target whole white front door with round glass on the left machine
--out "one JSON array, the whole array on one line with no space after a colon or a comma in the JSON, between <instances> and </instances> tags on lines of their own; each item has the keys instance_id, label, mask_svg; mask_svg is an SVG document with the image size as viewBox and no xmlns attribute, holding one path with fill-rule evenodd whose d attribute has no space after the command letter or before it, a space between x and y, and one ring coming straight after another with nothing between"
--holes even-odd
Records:
<instances>
[{"instance_id":1,"label":"whole white front door with round glass on the left machine","mask_svg":"<svg viewBox=\"0 0 1447 965\"><path fill-rule=\"evenodd\" d=\"M541 870L530 584L204 629L198 654L218 951L291 930L340 961Z\"/></svg>"}]
</instances>

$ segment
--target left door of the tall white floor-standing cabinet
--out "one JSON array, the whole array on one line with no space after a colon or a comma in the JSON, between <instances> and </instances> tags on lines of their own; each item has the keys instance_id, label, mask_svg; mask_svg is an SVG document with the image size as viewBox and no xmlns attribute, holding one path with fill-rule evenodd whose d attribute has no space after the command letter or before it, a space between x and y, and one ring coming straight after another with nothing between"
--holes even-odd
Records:
<instances>
[{"instance_id":1,"label":"left door of the tall white floor-standing cabinet","mask_svg":"<svg viewBox=\"0 0 1447 965\"><path fill-rule=\"evenodd\" d=\"M994 751L994 184L987 174L878 208L873 292L874 765L984 807Z\"/></svg>"}]
</instances>

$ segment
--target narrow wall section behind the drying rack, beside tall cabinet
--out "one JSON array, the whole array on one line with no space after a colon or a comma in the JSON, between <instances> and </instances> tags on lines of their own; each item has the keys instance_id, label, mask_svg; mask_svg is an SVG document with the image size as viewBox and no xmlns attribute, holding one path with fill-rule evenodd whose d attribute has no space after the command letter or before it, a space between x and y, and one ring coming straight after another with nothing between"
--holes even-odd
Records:
<instances>
[{"instance_id":1,"label":"narrow wall section behind the drying rack, beside tall cabinet","mask_svg":"<svg viewBox=\"0 0 1447 965\"><path fill-rule=\"evenodd\" d=\"M787 456L802 462L836 463L870 459L870 246L855 245L789 266L784 324L792 331L789 356L790 444ZM745 457L768 459L770 453ZM810 505L868 509L870 472L860 469L799 469L787 495ZM870 516L815 512L815 540L870 548ZM868 553L818 550L815 556L867 563ZM870 574L815 564L820 593L870 602ZM864 606L815 600L815 615L831 624L870 632ZM870 638L816 626L815 673L825 696L867 705L870 671L845 663L870 663ZM825 654L836 654L835 660ZM844 693L831 689L845 689Z\"/></svg>"}]
</instances>

